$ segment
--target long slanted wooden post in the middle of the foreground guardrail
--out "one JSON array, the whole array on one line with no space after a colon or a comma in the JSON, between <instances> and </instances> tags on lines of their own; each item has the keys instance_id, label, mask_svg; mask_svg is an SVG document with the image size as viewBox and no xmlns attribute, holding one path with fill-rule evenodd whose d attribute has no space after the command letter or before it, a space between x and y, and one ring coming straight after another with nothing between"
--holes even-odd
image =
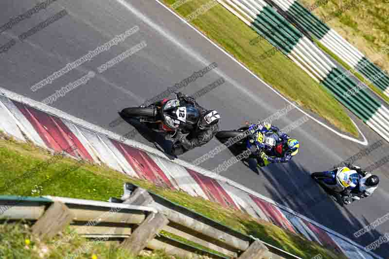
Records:
<instances>
[{"instance_id":1,"label":"long slanted wooden post in the middle of the foreground guardrail","mask_svg":"<svg viewBox=\"0 0 389 259\"><path fill-rule=\"evenodd\" d=\"M147 218L135 229L121 246L133 256L138 256L148 242L169 223L169 220L161 213L150 213Z\"/></svg>"}]
</instances>

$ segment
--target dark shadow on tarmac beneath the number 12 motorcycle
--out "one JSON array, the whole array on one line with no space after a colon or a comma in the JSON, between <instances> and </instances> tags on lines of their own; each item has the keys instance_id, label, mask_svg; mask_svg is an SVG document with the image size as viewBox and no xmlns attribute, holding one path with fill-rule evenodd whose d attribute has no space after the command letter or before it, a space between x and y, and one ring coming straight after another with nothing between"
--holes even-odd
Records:
<instances>
[{"instance_id":1,"label":"dark shadow on tarmac beneath the number 12 motorcycle","mask_svg":"<svg viewBox=\"0 0 389 259\"><path fill-rule=\"evenodd\" d=\"M129 134L127 133L128 136L124 136L125 138L133 139L137 134L140 134L143 138L145 138L149 142L154 143L156 148L159 151L165 153L165 155L167 155L170 159L177 158L176 156L171 155L173 142L170 140L166 140L163 134L153 131L145 124L141 123L139 120L136 120L134 118L127 118L121 115L120 113L119 116L124 121L126 121L128 124L131 124L135 128L132 131L130 131Z\"/></svg>"}]
</instances>

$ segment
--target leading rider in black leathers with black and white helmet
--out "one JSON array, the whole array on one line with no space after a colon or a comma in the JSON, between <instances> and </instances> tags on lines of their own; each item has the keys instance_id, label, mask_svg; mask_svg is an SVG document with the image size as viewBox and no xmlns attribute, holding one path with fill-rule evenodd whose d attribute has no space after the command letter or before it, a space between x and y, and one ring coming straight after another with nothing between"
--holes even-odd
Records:
<instances>
[{"instance_id":1,"label":"leading rider in black leathers with black and white helmet","mask_svg":"<svg viewBox=\"0 0 389 259\"><path fill-rule=\"evenodd\" d=\"M183 153L208 143L218 132L218 122L220 114L215 110L206 110L201 107L194 98L177 92L177 99L182 102L193 104L199 112L197 126L185 136L180 130L177 131L174 138L176 142L172 147L172 154L182 155Z\"/></svg>"}]
</instances>

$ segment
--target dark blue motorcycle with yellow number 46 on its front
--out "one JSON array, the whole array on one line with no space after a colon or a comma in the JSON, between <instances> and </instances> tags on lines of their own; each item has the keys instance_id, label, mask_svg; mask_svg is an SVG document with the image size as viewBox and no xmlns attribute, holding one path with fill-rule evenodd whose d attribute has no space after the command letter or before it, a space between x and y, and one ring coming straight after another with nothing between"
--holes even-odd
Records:
<instances>
[{"instance_id":1,"label":"dark blue motorcycle with yellow number 46 on its front","mask_svg":"<svg viewBox=\"0 0 389 259\"><path fill-rule=\"evenodd\" d=\"M219 131L216 134L216 138L218 139L239 139L236 144L242 148L249 149L252 154L249 158L258 158L255 154L260 154L261 152L265 152L266 150L271 150L274 148L280 148L276 146L276 142L280 140L280 136L277 132L268 131L261 132L262 127L261 121L258 121L259 124L251 124L245 127L241 127L237 130L225 130ZM281 146L282 149L282 146ZM262 159L258 164L259 167L265 167L270 164L267 159Z\"/></svg>"}]
</instances>

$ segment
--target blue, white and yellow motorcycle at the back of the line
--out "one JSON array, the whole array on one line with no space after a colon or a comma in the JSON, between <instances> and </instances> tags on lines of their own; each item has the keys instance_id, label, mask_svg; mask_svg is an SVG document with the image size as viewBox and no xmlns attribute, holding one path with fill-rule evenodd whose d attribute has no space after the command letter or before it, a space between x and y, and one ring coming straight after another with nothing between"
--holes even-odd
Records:
<instances>
[{"instance_id":1,"label":"blue, white and yellow motorcycle at the back of the line","mask_svg":"<svg viewBox=\"0 0 389 259\"><path fill-rule=\"evenodd\" d=\"M312 173L311 177L327 192L333 194L342 207L354 201L350 192L357 187L360 180L355 170L343 166L332 171Z\"/></svg>"}]
</instances>

